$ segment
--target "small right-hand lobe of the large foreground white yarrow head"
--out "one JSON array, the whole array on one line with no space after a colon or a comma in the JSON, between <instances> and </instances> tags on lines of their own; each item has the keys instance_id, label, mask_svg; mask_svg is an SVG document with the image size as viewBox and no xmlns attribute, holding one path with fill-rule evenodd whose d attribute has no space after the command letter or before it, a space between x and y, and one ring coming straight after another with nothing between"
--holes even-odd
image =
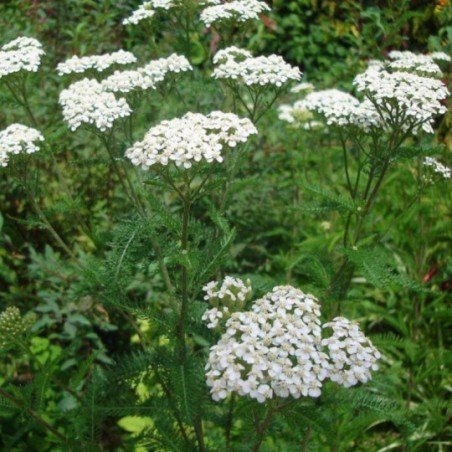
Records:
<instances>
[{"instance_id":1,"label":"small right-hand lobe of the large foreground white yarrow head","mask_svg":"<svg viewBox=\"0 0 452 452\"><path fill-rule=\"evenodd\" d=\"M378 370L376 362L381 355L359 326L344 317L336 317L323 328L333 329L333 335L322 340L332 361L331 381L349 388L370 380L371 371Z\"/></svg>"}]
</instances>

